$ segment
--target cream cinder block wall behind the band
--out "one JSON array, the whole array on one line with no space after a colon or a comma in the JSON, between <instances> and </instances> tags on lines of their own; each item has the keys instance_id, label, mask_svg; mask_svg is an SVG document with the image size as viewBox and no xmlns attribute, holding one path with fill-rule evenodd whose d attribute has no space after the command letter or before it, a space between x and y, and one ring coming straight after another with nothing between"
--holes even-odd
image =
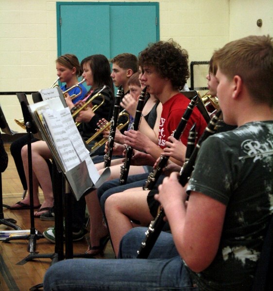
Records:
<instances>
[{"instance_id":1,"label":"cream cinder block wall behind the band","mask_svg":"<svg viewBox=\"0 0 273 291\"><path fill-rule=\"evenodd\" d=\"M248 34L273 35L272 0L151 1L159 2L160 38L173 38L187 49L190 62L209 60L214 49L229 40ZM263 19L261 28L256 26L258 18ZM49 87L56 79L56 37L55 0L1 0L0 91ZM0 105L11 128L23 132L14 122L22 117L17 97L0 95Z\"/></svg>"}]
</instances>

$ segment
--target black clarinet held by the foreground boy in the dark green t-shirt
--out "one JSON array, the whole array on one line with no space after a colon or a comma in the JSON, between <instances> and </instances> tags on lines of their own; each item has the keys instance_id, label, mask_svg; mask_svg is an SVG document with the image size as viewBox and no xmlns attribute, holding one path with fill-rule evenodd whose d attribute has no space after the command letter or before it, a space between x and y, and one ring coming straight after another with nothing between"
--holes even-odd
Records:
<instances>
[{"instance_id":1,"label":"black clarinet held by the foreground boy in the dark green t-shirt","mask_svg":"<svg viewBox=\"0 0 273 291\"><path fill-rule=\"evenodd\" d=\"M200 137L197 146L194 148L192 154L190 155L190 158L188 162L185 162L183 167L180 171L180 178L178 179L179 182L182 184L182 186L185 186L185 184L188 182L188 177L190 176L191 172L193 171L194 162L197 157L197 152L201 146L201 143L210 135L214 134L218 129L218 120L220 118L220 115L222 114L221 110L219 110L210 120L207 127L205 128L204 133ZM188 150L188 145L187 145ZM189 165L189 166L188 166ZM186 178L184 178L186 177ZM185 182L186 181L186 182ZM185 183L184 183L185 182ZM152 248L154 247L154 244L164 226L164 217L165 212L164 209L161 208L157 216L155 217L154 221L151 222L150 226L148 227L148 230L145 232L145 239L143 242L141 242L140 248L137 251L137 259L147 259Z\"/></svg>"}]
</instances>

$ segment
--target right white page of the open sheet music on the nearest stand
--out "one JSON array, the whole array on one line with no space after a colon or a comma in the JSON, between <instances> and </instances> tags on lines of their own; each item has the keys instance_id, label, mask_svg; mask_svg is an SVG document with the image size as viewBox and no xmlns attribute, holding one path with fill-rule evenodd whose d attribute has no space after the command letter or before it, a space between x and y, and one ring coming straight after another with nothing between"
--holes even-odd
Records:
<instances>
[{"instance_id":1,"label":"right white page of the open sheet music on the nearest stand","mask_svg":"<svg viewBox=\"0 0 273 291\"><path fill-rule=\"evenodd\" d=\"M76 153L78 154L81 162L85 161L88 169L88 173L92 182L95 184L100 178L100 174L95 167L92 159L90 158L89 151L85 147L83 139L80 135L79 130L77 129L75 122L71 116L71 113L68 108L65 108L60 111L62 122L65 125L65 129L68 132L68 136Z\"/></svg>"}]
</instances>

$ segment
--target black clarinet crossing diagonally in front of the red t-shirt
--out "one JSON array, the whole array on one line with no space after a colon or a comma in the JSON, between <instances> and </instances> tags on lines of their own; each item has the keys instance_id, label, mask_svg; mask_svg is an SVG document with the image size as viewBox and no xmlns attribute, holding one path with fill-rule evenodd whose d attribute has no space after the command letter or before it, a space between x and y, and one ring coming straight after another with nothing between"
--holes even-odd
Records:
<instances>
[{"instance_id":1,"label":"black clarinet crossing diagonally in front of the red t-shirt","mask_svg":"<svg viewBox=\"0 0 273 291\"><path fill-rule=\"evenodd\" d=\"M181 137L181 135L183 134L183 131L186 128L188 119L193 111L194 106L196 105L197 98L198 98L198 95L196 95L195 97L193 97L191 99L186 111L184 112L184 114L183 114L183 116L178 124L178 127L172 132L171 135L175 139L178 140ZM169 158L170 157L164 156L164 155L160 156L160 160L157 163L156 167L154 168L154 171L149 174L148 179L146 181L146 184L143 186L143 190L153 189L156 181L158 180L159 176L163 172L163 168L167 165Z\"/></svg>"}]
</instances>

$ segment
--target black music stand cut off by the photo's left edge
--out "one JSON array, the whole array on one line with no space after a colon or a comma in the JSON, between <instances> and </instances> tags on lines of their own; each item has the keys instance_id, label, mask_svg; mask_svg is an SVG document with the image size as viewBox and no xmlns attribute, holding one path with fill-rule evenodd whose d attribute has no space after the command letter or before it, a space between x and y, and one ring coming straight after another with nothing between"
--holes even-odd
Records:
<instances>
[{"instance_id":1,"label":"black music stand cut off by the photo's left edge","mask_svg":"<svg viewBox=\"0 0 273 291\"><path fill-rule=\"evenodd\" d=\"M5 115L0 106L0 128L6 134L12 135L15 131L12 131L6 121ZM4 218L3 207L9 208L8 205L3 204L3 195L2 195L2 175L0 173L0 225L10 226L16 230L21 230L20 226L16 225L16 220L13 218Z\"/></svg>"}]
</instances>

